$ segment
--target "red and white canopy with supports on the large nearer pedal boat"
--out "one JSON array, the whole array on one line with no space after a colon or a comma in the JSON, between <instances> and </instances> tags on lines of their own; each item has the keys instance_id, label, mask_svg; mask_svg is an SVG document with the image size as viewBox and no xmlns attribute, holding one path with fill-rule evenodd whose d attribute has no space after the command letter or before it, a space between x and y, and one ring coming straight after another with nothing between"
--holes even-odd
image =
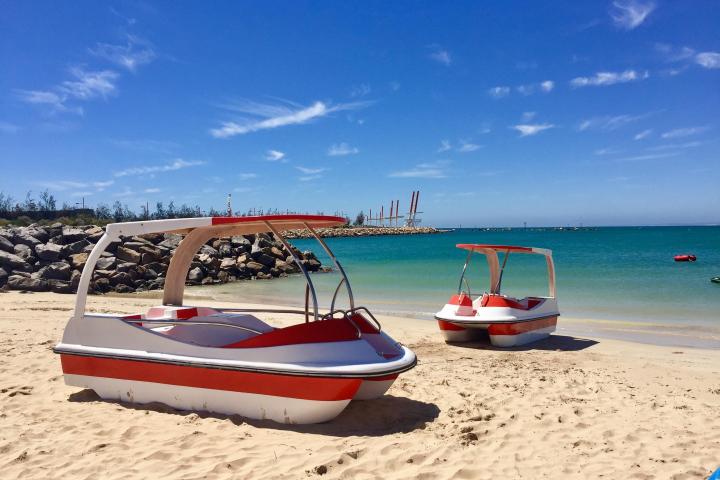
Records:
<instances>
[{"instance_id":1,"label":"red and white canopy with supports on the large nearer pedal boat","mask_svg":"<svg viewBox=\"0 0 720 480\"><path fill-rule=\"evenodd\" d=\"M330 251L325 242L315 232L315 228L335 227L344 225L346 220L342 217L328 215L257 215L246 217L199 217L199 218L177 218L168 220L148 220L139 222L111 223L105 228L105 235L100 238L92 252L88 256L85 268L80 276L80 283L77 290L75 303L75 316L81 317L85 311L87 291L90 286L95 264L102 252L113 241L121 236L146 235L150 233L177 233L184 234L185 238L180 242L170 259L167 274L165 276L165 288L163 292L163 305L183 304L185 291L185 279L187 278L190 264L195 254L211 238L230 237L235 235L252 235L257 233L273 233L285 246L288 253L293 256L300 270L305 275L308 284L308 294L312 295L314 316L318 318L318 305L315 289L308 275L305 266L297 255L290 248L290 244L280 234L287 230L308 230L323 249L328 253L331 260L338 267L345 284L350 304L354 307L354 301L350 284L340 263ZM340 285L338 285L338 290ZM337 295L337 291L335 293ZM333 303L334 303L333 298ZM307 308L307 307L306 307Z\"/></svg>"}]
</instances>

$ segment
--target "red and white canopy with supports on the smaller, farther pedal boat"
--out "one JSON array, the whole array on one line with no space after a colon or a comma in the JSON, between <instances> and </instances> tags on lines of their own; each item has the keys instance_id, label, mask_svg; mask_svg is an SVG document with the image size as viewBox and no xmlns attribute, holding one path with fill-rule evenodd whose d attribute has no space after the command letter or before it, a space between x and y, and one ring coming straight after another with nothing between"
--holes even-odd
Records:
<instances>
[{"instance_id":1,"label":"red and white canopy with supports on the smaller, farther pedal boat","mask_svg":"<svg viewBox=\"0 0 720 480\"><path fill-rule=\"evenodd\" d=\"M515 245L489 245L480 243L458 243L457 248L468 251L467 259L465 260L465 266L463 267L462 275L460 276L460 286L458 287L458 293L462 291L463 280L465 280L465 271L470 264L470 258L473 253L482 253L487 258L488 266L490 267L490 293L499 294L500 287L502 285L502 274L507 264L507 259L511 253L526 253L526 254L538 254L544 255L548 269L548 294L554 298L556 295L555 291L555 264L552 259L552 250L546 248L537 247L519 247ZM500 266L498 260L498 252L505 253L503 264ZM466 285L467 285L467 281ZM468 286L469 290L469 286ZM469 294L470 292L468 292Z\"/></svg>"}]
</instances>

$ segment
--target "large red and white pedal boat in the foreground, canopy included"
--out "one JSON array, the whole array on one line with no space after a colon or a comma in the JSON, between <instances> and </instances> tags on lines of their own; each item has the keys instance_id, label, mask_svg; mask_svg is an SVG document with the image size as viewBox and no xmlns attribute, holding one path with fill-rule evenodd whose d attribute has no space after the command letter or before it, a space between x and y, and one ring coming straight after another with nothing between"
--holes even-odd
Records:
<instances>
[{"instance_id":1,"label":"large red and white pedal boat in the foreground, canopy included","mask_svg":"<svg viewBox=\"0 0 720 480\"><path fill-rule=\"evenodd\" d=\"M344 223L330 216L268 215L108 225L88 257L74 314L54 348L65 383L92 389L106 400L161 402L180 410L282 423L325 422L353 399L382 396L400 373L415 366L416 358L382 331L370 311L355 305L345 271L315 231ZM318 309L298 250L282 236L295 229L307 229L340 273L327 313ZM120 237L163 232L184 238L170 259L162 305L135 315L86 313L88 286L101 253ZM274 234L304 275L304 310L184 305L185 278L206 242L261 233ZM335 309L342 286L348 310ZM300 323L274 328L260 318L268 314L298 314Z\"/></svg>"}]
</instances>

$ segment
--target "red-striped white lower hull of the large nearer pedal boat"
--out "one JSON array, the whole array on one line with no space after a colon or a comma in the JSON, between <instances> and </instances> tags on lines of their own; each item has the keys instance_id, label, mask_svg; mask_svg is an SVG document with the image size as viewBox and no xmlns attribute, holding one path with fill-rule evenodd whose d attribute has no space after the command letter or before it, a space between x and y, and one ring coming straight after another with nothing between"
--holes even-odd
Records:
<instances>
[{"instance_id":1,"label":"red-striped white lower hull of the large nearer pedal boat","mask_svg":"<svg viewBox=\"0 0 720 480\"><path fill-rule=\"evenodd\" d=\"M160 402L179 410L293 424L332 420L365 383L362 378L282 375L69 354L61 354L61 362L66 384L92 389L105 400ZM377 393L378 385L369 393Z\"/></svg>"}]
</instances>

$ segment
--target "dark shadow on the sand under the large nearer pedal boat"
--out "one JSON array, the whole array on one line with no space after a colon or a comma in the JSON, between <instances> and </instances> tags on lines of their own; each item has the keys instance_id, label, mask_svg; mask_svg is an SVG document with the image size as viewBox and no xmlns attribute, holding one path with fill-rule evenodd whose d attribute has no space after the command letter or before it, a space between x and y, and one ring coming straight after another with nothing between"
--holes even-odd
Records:
<instances>
[{"instance_id":1,"label":"dark shadow on the sand under the large nearer pedal boat","mask_svg":"<svg viewBox=\"0 0 720 480\"><path fill-rule=\"evenodd\" d=\"M68 396L71 402L107 402L128 410L153 411L187 417L230 420L235 425L250 425L256 428L287 430L298 433L314 433L334 437L370 436L378 437L392 433L408 433L435 420L440 409L434 403L420 402L406 397L384 395L375 400L350 402L345 410L327 423L309 425L283 424L270 420L255 420L240 415L222 415L194 410L176 410L163 403L133 404L101 399L93 390L85 389Z\"/></svg>"}]
</instances>

